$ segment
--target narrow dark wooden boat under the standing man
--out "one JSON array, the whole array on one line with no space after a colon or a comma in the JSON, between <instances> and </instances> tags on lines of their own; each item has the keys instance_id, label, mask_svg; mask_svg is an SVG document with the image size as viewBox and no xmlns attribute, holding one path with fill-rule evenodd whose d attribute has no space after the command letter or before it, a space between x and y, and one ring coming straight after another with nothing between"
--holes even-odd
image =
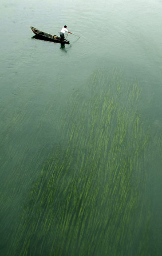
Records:
<instances>
[{"instance_id":1,"label":"narrow dark wooden boat under the standing man","mask_svg":"<svg viewBox=\"0 0 162 256\"><path fill-rule=\"evenodd\" d=\"M47 34L34 27L30 27L30 28L32 29L32 32L36 35L37 38L47 40L47 41L52 41L55 43L60 43L60 44L70 44L69 40L65 39L64 41L62 41L59 36Z\"/></svg>"}]
</instances>

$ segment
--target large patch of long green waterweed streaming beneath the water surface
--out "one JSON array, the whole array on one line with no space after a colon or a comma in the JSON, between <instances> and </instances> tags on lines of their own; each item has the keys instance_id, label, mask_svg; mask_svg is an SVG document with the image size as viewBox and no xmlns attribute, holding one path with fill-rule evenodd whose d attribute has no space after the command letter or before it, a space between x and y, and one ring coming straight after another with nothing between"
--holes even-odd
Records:
<instances>
[{"instance_id":1,"label":"large patch of long green waterweed streaming beneath the water surface","mask_svg":"<svg viewBox=\"0 0 162 256\"><path fill-rule=\"evenodd\" d=\"M97 70L87 95L72 95L55 148L33 185L12 255L142 255L149 132L138 112L138 84ZM64 143L66 141L66 144ZM142 243L140 241L142 240ZM9 255L9 253L8 253Z\"/></svg>"}]
</instances>

